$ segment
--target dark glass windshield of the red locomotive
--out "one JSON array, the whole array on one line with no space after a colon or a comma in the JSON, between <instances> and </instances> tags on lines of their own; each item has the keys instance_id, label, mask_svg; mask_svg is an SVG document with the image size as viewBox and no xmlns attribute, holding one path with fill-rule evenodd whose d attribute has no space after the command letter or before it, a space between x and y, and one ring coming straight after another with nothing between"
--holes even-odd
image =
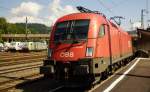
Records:
<instances>
[{"instance_id":1,"label":"dark glass windshield of the red locomotive","mask_svg":"<svg viewBox=\"0 0 150 92\"><path fill-rule=\"evenodd\" d=\"M74 41L87 39L89 20L71 20L56 24L54 41Z\"/></svg>"}]
</instances>

